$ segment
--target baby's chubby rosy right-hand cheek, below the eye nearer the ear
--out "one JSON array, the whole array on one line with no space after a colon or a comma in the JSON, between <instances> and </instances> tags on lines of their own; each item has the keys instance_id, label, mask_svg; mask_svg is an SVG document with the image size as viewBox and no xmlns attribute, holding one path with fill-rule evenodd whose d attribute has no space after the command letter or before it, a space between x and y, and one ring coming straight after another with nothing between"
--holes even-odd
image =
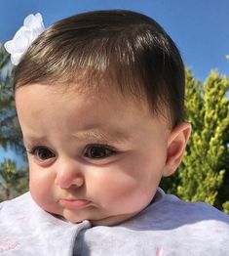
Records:
<instances>
[{"instance_id":1,"label":"baby's chubby rosy right-hand cheek, below the eye nearer the ear","mask_svg":"<svg viewBox=\"0 0 229 256\"><path fill-rule=\"evenodd\" d=\"M138 212L152 200L157 185L146 181L141 170L119 168L104 170L95 175L91 188L103 209L112 214Z\"/></svg>"}]
</instances>

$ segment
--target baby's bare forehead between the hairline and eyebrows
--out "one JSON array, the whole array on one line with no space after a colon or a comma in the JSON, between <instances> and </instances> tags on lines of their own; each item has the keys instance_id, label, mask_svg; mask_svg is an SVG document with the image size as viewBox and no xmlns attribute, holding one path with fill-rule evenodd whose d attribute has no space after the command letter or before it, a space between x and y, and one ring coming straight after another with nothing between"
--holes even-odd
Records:
<instances>
[{"instance_id":1,"label":"baby's bare forehead between the hairline and eyebrows","mask_svg":"<svg viewBox=\"0 0 229 256\"><path fill-rule=\"evenodd\" d=\"M59 127L71 131L98 128L107 131L122 127L131 132L161 123L161 118L155 118L145 105L132 99L109 92L101 96L78 93L77 90L63 92L59 88L60 84L31 84L18 89L16 101L24 131L26 127L32 131L33 127L43 124L46 132L57 132Z\"/></svg>"}]
</instances>

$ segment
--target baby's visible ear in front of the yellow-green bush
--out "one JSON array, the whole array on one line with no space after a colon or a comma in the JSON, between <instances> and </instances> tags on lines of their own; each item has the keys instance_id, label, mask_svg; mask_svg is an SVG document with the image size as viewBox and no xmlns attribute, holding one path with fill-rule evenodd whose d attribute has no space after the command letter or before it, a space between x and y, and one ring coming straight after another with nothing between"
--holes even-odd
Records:
<instances>
[{"instance_id":1,"label":"baby's visible ear in front of the yellow-green bush","mask_svg":"<svg viewBox=\"0 0 229 256\"><path fill-rule=\"evenodd\" d=\"M190 134L191 125L186 122L181 122L172 129L168 139L167 162L163 176L172 175L179 166Z\"/></svg>"}]
</instances>

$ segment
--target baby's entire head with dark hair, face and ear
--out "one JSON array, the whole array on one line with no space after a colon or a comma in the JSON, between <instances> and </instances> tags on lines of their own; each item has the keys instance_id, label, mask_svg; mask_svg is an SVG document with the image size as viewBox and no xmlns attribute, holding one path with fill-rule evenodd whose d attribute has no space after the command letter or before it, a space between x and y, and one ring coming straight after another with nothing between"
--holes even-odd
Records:
<instances>
[{"instance_id":1,"label":"baby's entire head with dark hair, face and ear","mask_svg":"<svg viewBox=\"0 0 229 256\"><path fill-rule=\"evenodd\" d=\"M66 220L133 217L182 159L184 66L148 17L100 11L58 21L22 57L15 90L31 195Z\"/></svg>"}]
</instances>

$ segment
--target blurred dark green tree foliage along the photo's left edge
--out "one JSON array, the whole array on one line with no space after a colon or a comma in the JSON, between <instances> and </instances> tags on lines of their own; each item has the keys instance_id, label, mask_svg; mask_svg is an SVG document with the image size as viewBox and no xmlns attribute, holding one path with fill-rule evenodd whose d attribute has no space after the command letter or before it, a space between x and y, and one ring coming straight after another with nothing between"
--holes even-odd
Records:
<instances>
[{"instance_id":1,"label":"blurred dark green tree foliage along the photo's left edge","mask_svg":"<svg viewBox=\"0 0 229 256\"><path fill-rule=\"evenodd\" d=\"M23 146L12 87L12 66L9 63L9 55L2 45L0 45L0 147L15 149L22 157ZM26 189L26 167L17 169L15 162L3 159L0 163L0 200L12 198Z\"/></svg>"}]
</instances>

